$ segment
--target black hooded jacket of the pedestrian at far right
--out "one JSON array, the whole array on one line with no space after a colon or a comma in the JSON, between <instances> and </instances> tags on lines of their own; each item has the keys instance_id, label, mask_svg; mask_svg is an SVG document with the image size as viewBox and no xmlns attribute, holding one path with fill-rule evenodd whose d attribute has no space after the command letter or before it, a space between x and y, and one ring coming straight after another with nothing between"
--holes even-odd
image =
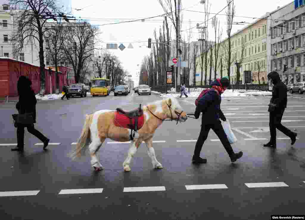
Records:
<instances>
[{"instance_id":1,"label":"black hooded jacket of the pedestrian at far right","mask_svg":"<svg viewBox=\"0 0 305 220\"><path fill-rule=\"evenodd\" d=\"M277 72L273 71L268 74L268 79L272 80L272 98L271 103L275 104L275 108L284 109L287 107L287 88L285 83L282 82Z\"/></svg>"}]
</instances>

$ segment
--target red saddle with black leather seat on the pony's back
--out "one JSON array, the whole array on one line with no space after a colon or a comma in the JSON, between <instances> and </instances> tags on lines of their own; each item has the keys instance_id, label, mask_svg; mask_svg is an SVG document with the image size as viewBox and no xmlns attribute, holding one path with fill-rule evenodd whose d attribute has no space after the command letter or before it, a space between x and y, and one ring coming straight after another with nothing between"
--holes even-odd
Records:
<instances>
[{"instance_id":1,"label":"red saddle with black leather seat on the pony's back","mask_svg":"<svg viewBox=\"0 0 305 220\"><path fill-rule=\"evenodd\" d=\"M144 125L144 115L141 105L139 108L129 112L117 108L114 113L114 125L135 131L141 129Z\"/></svg>"}]
</instances>

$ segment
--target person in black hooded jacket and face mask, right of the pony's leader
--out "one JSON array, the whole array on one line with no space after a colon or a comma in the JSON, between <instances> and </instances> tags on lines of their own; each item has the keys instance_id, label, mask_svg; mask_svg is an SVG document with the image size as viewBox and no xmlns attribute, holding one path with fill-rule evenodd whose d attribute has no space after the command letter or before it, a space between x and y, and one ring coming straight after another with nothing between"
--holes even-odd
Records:
<instances>
[{"instance_id":1,"label":"person in black hooded jacket and face mask, right of the pony's leader","mask_svg":"<svg viewBox=\"0 0 305 220\"><path fill-rule=\"evenodd\" d=\"M287 88L285 83L282 82L280 75L276 71L272 71L267 76L268 81L272 81L272 98L270 100L269 112L269 128L270 128L270 141L264 144L264 147L276 148L276 129L290 137L291 144L296 142L297 133L292 132L281 124L282 117L287 107Z\"/></svg>"}]
</instances>

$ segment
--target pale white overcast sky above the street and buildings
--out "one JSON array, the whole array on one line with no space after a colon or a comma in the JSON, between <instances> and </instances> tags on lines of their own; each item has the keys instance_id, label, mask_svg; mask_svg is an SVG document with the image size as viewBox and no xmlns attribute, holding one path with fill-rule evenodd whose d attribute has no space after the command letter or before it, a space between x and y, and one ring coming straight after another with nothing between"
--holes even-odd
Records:
<instances>
[{"instance_id":1,"label":"pale white overcast sky above the street and buildings","mask_svg":"<svg viewBox=\"0 0 305 220\"><path fill-rule=\"evenodd\" d=\"M164 0L163 0L164 1ZM174 2L172 0L172 2ZM183 25L181 30L190 27L196 27L196 23L203 22L203 4L199 3L200 0L181 0ZM253 22L254 17L260 17L266 12L271 12L277 9L277 6L284 6L292 2L291 0L256 0L244 1L234 0L236 5L235 22ZM207 2L206 2L207 3ZM210 1L211 13L217 13L223 9L227 2L226 0ZM75 17L81 17L84 20L89 20L92 25L103 25L108 23L117 23L121 21L144 19L152 16L158 16L164 13L158 0L72 0L73 14ZM81 10L76 10L81 9ZM199 12L189 12L186 10L194 10ZM220 12L225 14L225 9ZM211 14L210 17L214 16ZM243 18L237 16L246 16L251 18ZM223 27L223 38L225 36L225 16L218 15L217 18L221 21ZM146 48L148 38L153 39L153 30L159 30L162 25L163 17L145 20L145 22L131 22L122 24L112 24L99 26L102 34L100 40L103 41L102 47L106 48L106 43L123 43L126 47L123 51L110 50L114 55L117 55L126 69L133 77L135 84L138 84L138 77L136 73L139 72L139 66L145 55L149 54L150 49ZM211 25L211 24L210 24ZM243 25L233 25L232 33L242 29ZM193 40L199 38L198 29L193 28ZM181 36L187 36L187 32L181 32ZM175 38L174 31L172 31L172 39ZM213 39L209 39L213 40ZM127 48L130 42L143 41L143 43L131 43L133 49ZM140 47L142 46L142 47ZM139 66L137 66L139 64Z\"/></svg>"}]
</instances>

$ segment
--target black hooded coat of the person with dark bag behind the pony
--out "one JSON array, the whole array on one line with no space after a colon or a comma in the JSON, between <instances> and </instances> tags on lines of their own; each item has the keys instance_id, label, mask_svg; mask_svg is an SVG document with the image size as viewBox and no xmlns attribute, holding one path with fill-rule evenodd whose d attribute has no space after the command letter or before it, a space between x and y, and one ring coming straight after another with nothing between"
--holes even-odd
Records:
<instances>
[{"instance_id":1,"label":"black hooded coat of the person with dark bag behind the pony","mask_svg":"<svg viewBox=\"0 0 305 220\"><path fill-rule=\"evenodd\" d=\"M36 123L36 97L31 88L32 82L25 76L20 76L17 82L17 90L19 101L16 104L16 109L19 114L33 113L34 123Z\"/></svg>"}]
</instances>

